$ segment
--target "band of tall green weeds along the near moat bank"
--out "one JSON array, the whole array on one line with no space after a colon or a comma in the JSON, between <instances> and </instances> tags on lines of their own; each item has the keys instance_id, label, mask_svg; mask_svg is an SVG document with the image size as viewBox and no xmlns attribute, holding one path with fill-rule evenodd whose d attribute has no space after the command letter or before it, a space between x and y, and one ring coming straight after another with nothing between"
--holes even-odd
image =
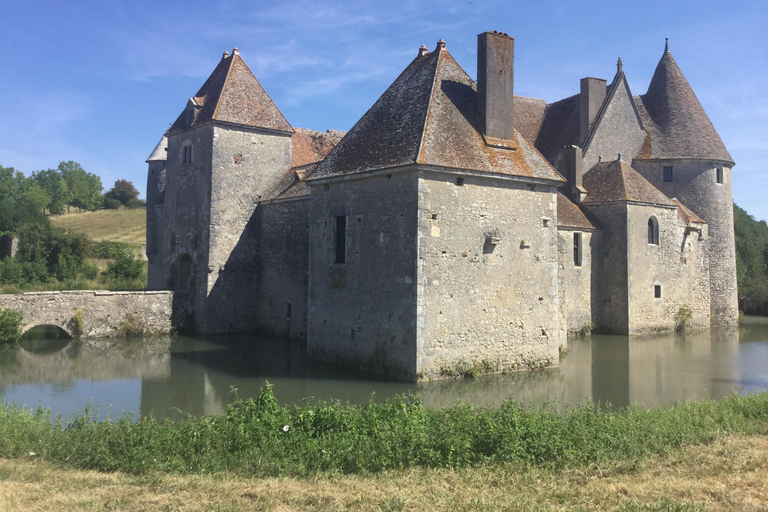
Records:
<instances>
[{"instance_id":1,"label":"band of tall green weeds along the near moat bank","mask_svg":"<svg viewBox=\"0 0 768 512\"><path fill-rule=\"evenodd\" d=\"M768 433L768 392L721 402L558 413L506 402L432 410L414 397L365 406L278 405L271 387L236 400L224 415L180 423L92 410L63 425L50 413L0 407L0 456L43 457L102 471L232 471L257 476L360 473L480 464L568 468L636 458L726 434Z\"/></svg>"}]
</instances>

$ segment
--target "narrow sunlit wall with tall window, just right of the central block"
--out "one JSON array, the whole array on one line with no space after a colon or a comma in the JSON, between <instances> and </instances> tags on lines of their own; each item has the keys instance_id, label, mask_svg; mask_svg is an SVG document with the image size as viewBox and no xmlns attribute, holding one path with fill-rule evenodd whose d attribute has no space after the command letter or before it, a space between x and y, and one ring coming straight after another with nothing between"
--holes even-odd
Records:
<instances>
[{"instance_id":1,"label":"narrow sunlit wall with tall window, just right of the central block","mask_svg":"<svg viewBox=\"0 0 768 512\"><path fill-rule=\"evenodd\" d=\"M574 234L581 234L581 265L574 260ZM593 307L597 306L597 265L593 258L599 258L601 235L596 231L580 231L572 228L558 228L558 293L560 295L561 330L568 334L580 332L585 326L597 323ZM567 339L567 338L566 338ZM562 345L565 348L565 341Z\"/></svg>"}]
</instances>

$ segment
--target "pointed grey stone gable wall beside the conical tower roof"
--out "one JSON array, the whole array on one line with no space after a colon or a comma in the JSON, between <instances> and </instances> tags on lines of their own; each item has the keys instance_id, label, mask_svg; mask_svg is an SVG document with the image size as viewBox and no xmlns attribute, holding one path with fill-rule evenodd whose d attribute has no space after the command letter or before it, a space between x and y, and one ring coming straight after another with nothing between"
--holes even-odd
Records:
<instances>
[{"instance_id":1,"label":"pointed grey stone gable wall beside the conical tower roof","mask_svg":"<svg viewBox=\"0 0 768 512\"><path fill-rule=\"evenodd\" d=\"M615 160L619 153L625 157L638 153L645 140L645 131L640 127L632 101L627 88L620 83L584 150L585 171L591 169L600 156L603 160Z\"/></svg>"}]
</instances>

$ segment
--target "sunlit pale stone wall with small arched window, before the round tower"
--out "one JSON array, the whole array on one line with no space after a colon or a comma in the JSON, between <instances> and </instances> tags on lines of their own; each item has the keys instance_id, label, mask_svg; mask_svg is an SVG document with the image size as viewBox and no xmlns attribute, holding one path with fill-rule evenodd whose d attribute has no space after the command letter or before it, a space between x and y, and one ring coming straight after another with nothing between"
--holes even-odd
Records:
<instances>
[{"instance_id":1,"label":"sunlit pale stone wall with small arched window, before the round tower","mask_svg":"<svg viewBox=\"0 0 768 512\"><path fill-rule=\"evenodd\" d=\"M648 243L648 219L656 217L659 244ZM693 327L709 326L709 265L706 226L702 239L688 233L674 208L628 205L629 334L673 330L680 308L691 310ZM654 298L654 286L661 298Z\"/></svg>"}]
</instances>

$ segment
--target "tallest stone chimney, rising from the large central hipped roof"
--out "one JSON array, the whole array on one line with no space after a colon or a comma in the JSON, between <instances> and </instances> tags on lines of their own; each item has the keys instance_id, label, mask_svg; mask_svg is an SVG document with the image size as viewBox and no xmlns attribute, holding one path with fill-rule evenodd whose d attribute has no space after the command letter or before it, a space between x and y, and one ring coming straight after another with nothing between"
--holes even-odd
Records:
<instances>
[{"instance_id":1,"label":"tallest stone chimney, rising from the large central hipped roof","mask_svg":"<svg viewBox=\"0 0 768 512\"><path fill-rule=\"evenodd\" d=\"M477 117L486 137L512 138L515 40L501 32L477 36Z\"/></svg>"}]
</instances>

